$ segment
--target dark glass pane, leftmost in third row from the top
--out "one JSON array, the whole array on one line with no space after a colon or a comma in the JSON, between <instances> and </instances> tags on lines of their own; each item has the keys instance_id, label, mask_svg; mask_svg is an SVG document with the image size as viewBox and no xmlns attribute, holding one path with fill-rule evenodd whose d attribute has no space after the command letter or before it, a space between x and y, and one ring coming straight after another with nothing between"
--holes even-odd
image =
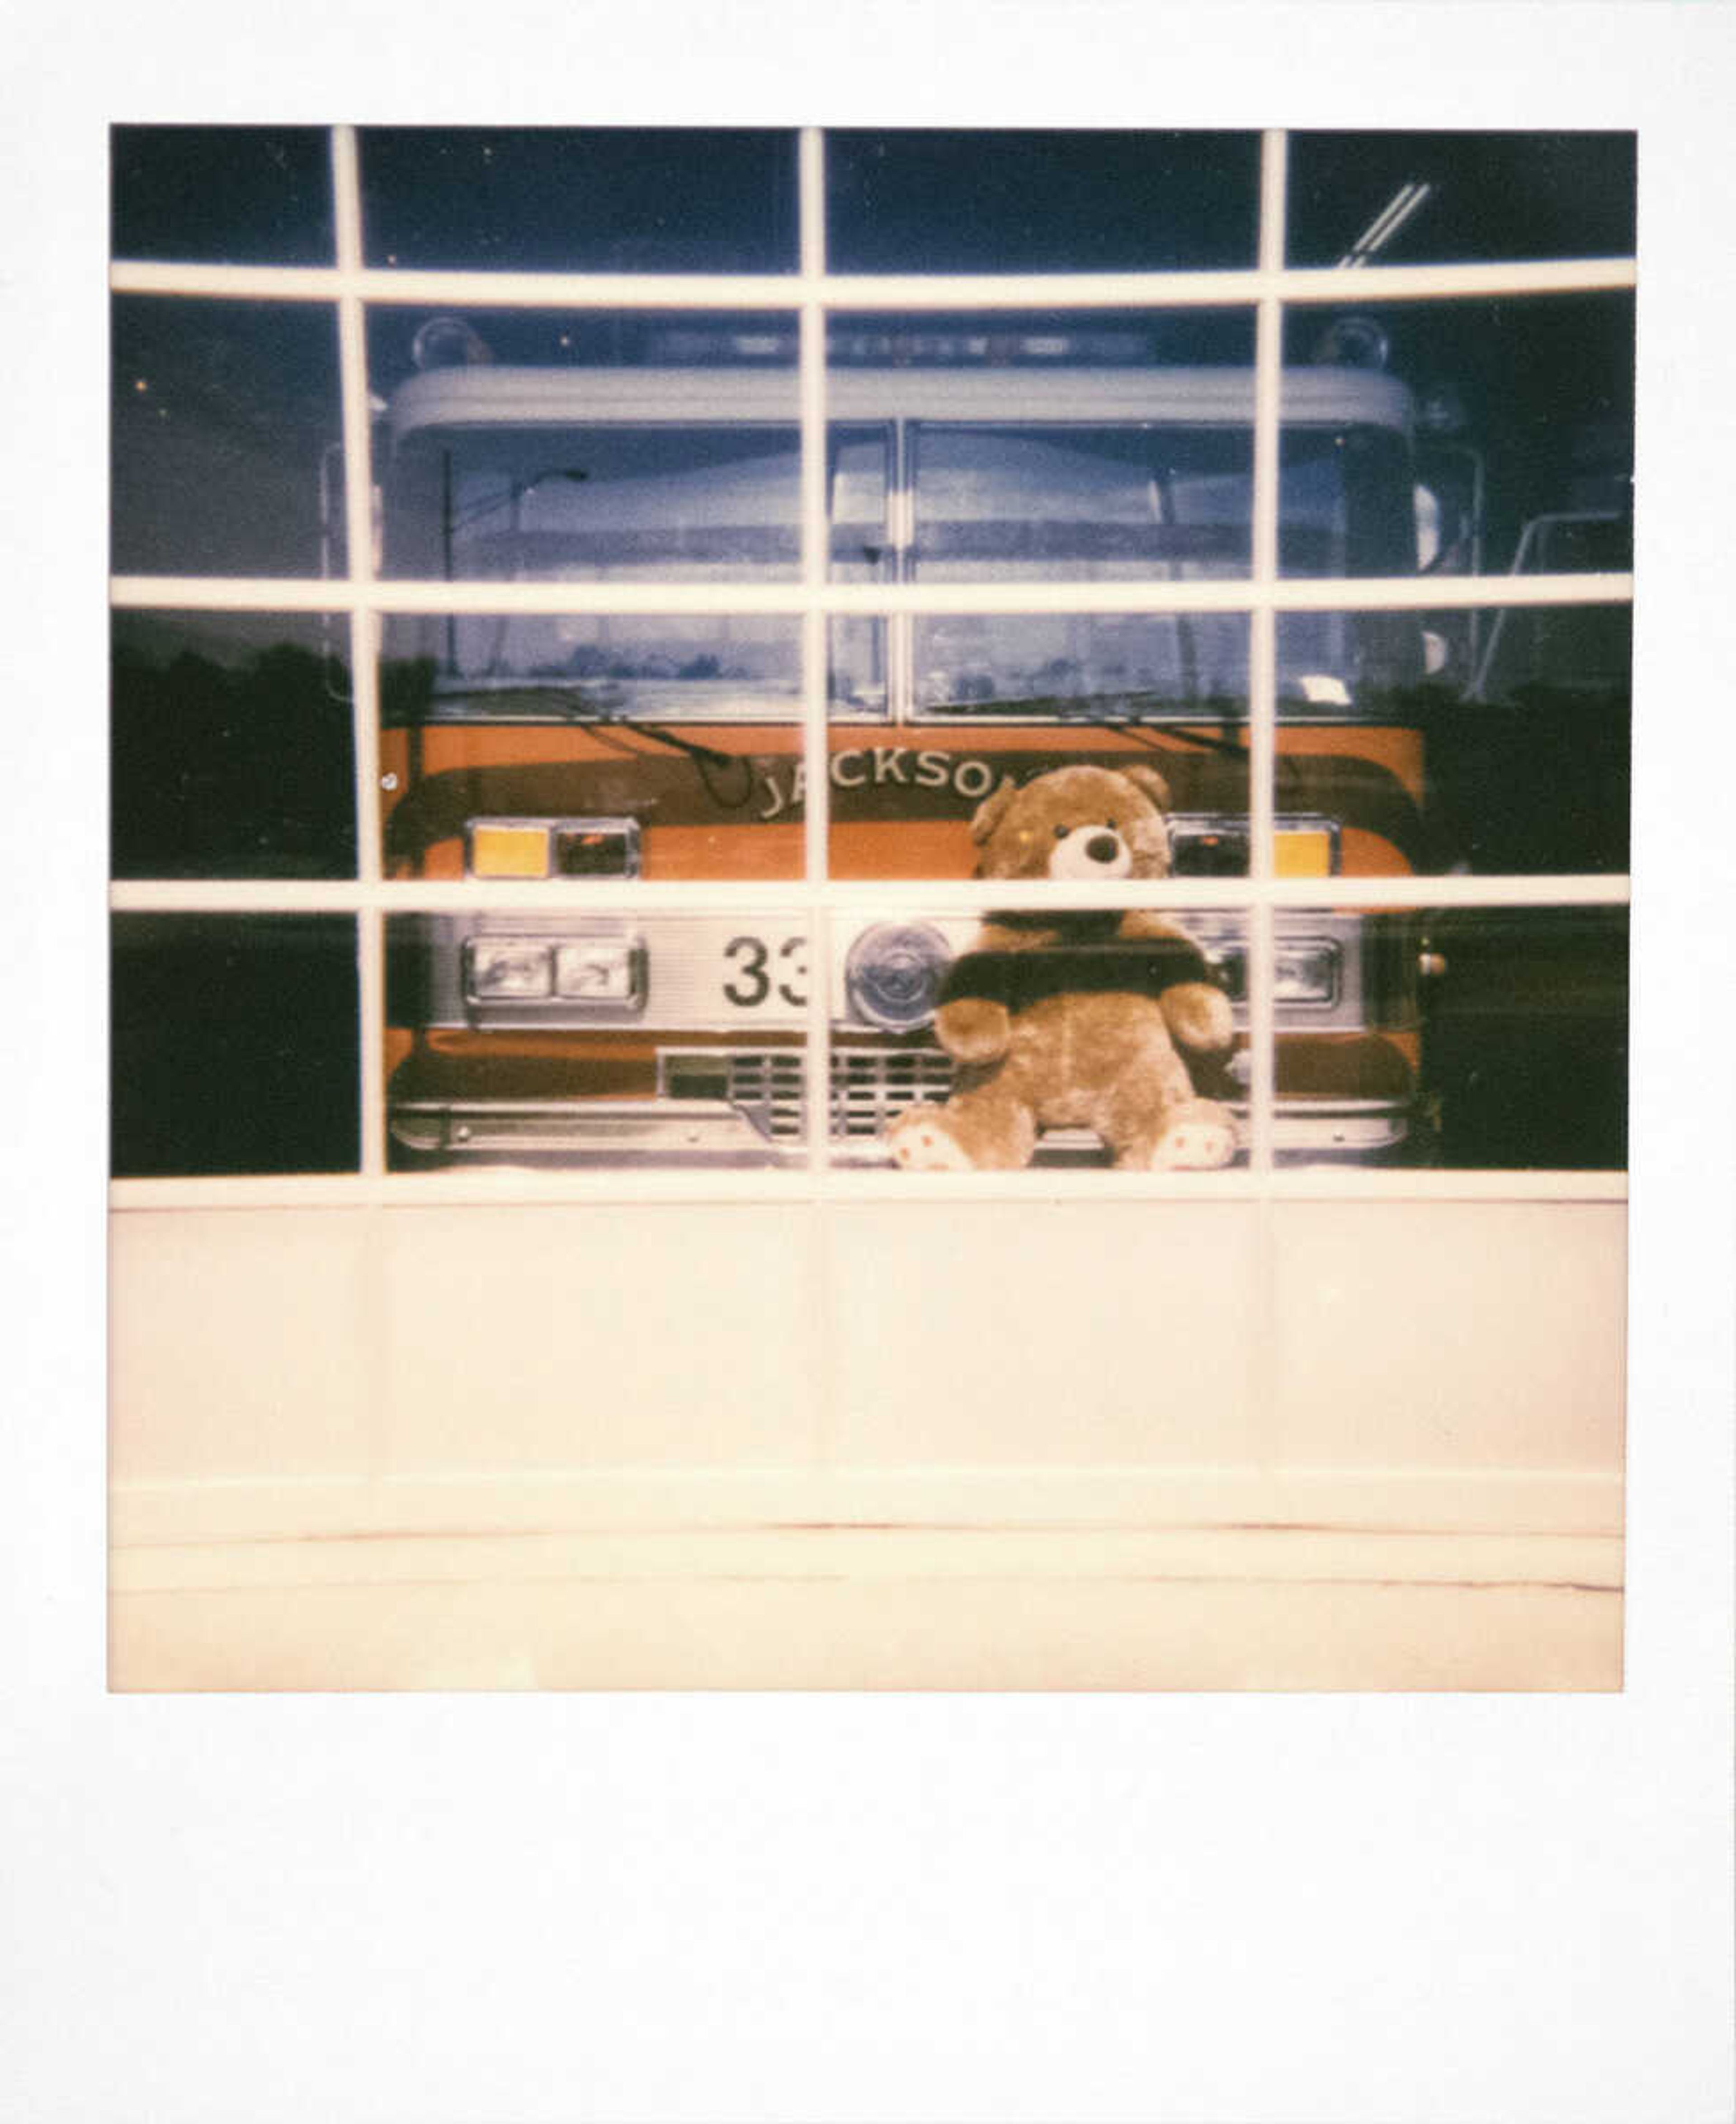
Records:
<instances>
[{"instance_id":1,"label":"dark glass pane, leftmost in third row from the top","mask_svg":"<svg viewBox=\"0 0 1736 2124\"><path fill-rule=\"evenodd\" d=\"M354 877L348 624L117 612L115 877Z\"/></svg>"}]
</instances>

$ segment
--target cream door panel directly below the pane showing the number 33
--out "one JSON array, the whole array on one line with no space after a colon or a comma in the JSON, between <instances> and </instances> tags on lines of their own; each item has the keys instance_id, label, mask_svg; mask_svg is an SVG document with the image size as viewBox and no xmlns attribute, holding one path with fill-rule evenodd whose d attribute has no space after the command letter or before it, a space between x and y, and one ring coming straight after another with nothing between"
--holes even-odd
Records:
<instances>
[{"instance_id":1,"label":"cream door panel directly below the pane showing the number 33","mask_svg":"<svg viewBox=\"0 0 1736 2124\"><path fill-rule=\"evenodd\" d=\"M393 1474L804 1466L813 1213L386 1211Z\"/></svg>"}]
</instances>

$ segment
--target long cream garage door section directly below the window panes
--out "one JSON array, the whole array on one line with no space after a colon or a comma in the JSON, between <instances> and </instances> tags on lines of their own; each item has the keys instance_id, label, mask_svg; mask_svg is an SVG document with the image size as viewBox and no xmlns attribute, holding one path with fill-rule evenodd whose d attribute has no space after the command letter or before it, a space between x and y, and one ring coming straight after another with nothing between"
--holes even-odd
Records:
<instances>
[{"instance_id":1,"label":"long cream garage door section directly below the window panes","mask_svg":"<svg viewBox=\"0 0 1736 2124\"><path fill-rule=\"evenodd\" d=\"M153 1489L151 1523L174 1538L176 1493L204 1491L199 1525L219 1531L223 1487L250 1485L248 1523L297 1531L295 1485L320 1478L352 1493L346 1523L390 1523L433 1480L441 1523L475 1483L509 1485L526 1523L581 1508L596 1525L609 1493L579 1506L558 1476L643 1470L632 1510L679 1483L677 1517L694 1478L726 1476L705 1506L726 1521L760 1474L830 1468L826 1506L845 1519L898 1519L906 1495L917 1517L995 1517L1006 1478L1021 1514L1072 1517L1087 1480L1176 1523L1220 1517L1191 1480L1218 1472L1225 1495L1275 1478L1275 1517L1303 1519L1333 1517L1337 1478L1373 1497L1386 1476L1619 1476L1619 1204L1280 1202L1269 1253L1261 1215L1199 1200L127 1213L112 1478ZM1307 1510L1284 1510L1286 1478ZM1524 1523L1556 1523L1530 1517Z\"/></svg>"}]
</instances>

